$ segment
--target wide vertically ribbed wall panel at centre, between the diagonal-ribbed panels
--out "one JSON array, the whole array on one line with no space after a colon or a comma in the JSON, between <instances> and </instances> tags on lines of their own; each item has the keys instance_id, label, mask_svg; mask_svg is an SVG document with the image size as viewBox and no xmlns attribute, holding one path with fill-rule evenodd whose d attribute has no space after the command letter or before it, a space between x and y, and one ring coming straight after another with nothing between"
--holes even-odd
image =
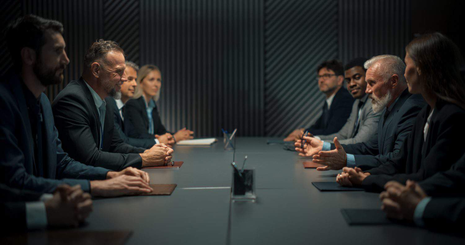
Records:
<instances>
[{"instance_id":1,"label":"wide vertically ribbed wall panel at centre, between the diagonal-ribbed panels","mask_svg":"<svg viewBox=\"0 0 465 245\"><path fill-rule=\"evenodd\" d=\"M162 71L168 130L264 134L263 2L141 0L140 65Z\"/></svg>"}]
</instances>

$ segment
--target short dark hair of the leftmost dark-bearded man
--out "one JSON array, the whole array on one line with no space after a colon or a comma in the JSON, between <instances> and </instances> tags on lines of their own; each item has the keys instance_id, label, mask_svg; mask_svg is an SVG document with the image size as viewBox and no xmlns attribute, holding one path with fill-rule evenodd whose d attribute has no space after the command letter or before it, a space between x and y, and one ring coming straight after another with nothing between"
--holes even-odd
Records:
<instances>
[{"instance_id":1,"label":"short dark hair of the leftmost dark-bearded man","mask_svg":"<svg viewBox=\"0 0 465 245\"><path fill-rule=\"evenodd\" d=\"M52 30L63 35L63 24L57 20L48 20L29 14L13 20L7 25L5 35L8 50L14 66L20 69L22 66L21 49L32 48L37 56L40 49L45 45L45 32Z\"/></svg>"}]
</instances>

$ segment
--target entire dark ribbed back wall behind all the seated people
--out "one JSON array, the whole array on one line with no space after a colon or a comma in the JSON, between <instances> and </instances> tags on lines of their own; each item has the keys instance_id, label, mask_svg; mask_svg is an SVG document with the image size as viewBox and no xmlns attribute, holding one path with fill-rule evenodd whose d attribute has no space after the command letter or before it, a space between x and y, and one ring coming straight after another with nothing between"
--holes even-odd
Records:
<instances>
[{"instance_id":1,"label":"entire dark ribbed back wall behind all the seated people","mask_svg":"<svg viewBox=\"0 0 465 245\"><path fill-rule=\"evenodd\" d=\"M309 126L324 99L315 68L394 54L419 33L441 31L464 51L461 0L3 0L1 26L28 13L59 20L71 62L50 100L80 77L88 46L120 43L127 60L163 75L159 112L168 130L197 137L238 128L283 136ZM2 37L0 72L11 66Z\"/></svg>"}]
</instances>

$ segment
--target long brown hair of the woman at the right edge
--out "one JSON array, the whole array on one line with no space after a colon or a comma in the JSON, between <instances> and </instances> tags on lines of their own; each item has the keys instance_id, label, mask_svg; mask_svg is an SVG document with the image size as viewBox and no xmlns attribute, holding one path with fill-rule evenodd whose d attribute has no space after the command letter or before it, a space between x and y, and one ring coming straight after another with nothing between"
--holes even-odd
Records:
<instances>
[{"instance_id":1,"label":"long brown hair of the woman at the right edge","mask_svg":"<svg viewBox=\"0 0 465 245\"><path fill-rule=\"evenodd\" d=\"M463 58L452 40L441 33L428 33L412 40L405 51L419 68L426 89L465 109L465 83L460 76Z\"/></svg>"}]
</instances>

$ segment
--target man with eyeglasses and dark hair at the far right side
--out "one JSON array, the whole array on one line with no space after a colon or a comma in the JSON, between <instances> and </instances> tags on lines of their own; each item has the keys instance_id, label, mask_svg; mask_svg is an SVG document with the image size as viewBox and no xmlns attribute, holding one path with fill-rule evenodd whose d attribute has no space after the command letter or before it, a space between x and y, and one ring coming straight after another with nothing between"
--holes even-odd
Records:
<instances>
[{"instance_id":1,"label":"man with eyeglasses and dark hair at the far right side","mask_svg":"<svg viewBox=\"0 0 465 245\"><path fill-rule=\"evenodd\" d=\"M321 92L326 96L323 113L319 119L306 130L310 135L327 135L338 132L349 118L352 111L353 97L342 87L344 68L337 60L328 60L317 68L317 81ZM294 130L284 141L293 141L304 133L304 128Z\"/></svg>"}]
</instances>

